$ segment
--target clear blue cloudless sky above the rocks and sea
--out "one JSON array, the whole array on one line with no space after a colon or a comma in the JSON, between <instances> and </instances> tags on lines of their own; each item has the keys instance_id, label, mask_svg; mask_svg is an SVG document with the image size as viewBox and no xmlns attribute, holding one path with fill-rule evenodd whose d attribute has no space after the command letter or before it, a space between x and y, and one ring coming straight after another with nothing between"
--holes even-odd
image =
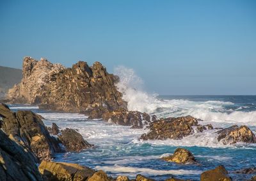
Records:
<instances>
[{"instance_id":1,"label":"clear blue cloudless sky above the rocks and sea","mask_svg":"<svg viewBox=\"0 0 256 181\"><path fill-rule=\"evenodd\" d=\"M0 65L133 68L145 90L256 94L256 1L0 1ZM1 77L0 77L1 78Z\"/></svg>"}]
</instances>

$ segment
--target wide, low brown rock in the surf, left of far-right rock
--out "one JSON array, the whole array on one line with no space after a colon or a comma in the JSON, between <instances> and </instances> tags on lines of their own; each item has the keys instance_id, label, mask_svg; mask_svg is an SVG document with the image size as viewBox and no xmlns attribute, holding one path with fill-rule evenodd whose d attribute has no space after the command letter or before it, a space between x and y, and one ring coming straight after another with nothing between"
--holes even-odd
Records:
<instances>
[{"instance_id":1,"label":"wide, low brown rock in the surf, left of far-right rock","mask_svg":"<svg viewBox=\"0 0 256 181\"><path fill-rule=\"evenodd\" d=\"M182 139L193 134L198 120L192 116L166 118L150 123L150 132L141 135L141 139Z\"/></svg>"}]
</instances>

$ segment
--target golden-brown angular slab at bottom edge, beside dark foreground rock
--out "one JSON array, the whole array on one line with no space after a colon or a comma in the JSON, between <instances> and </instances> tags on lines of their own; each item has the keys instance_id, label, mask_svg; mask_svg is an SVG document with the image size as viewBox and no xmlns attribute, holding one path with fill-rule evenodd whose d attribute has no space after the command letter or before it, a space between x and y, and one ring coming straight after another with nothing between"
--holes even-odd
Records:
<instances>
[{"instance_id":1,"label":"golden-brown angular slab at bottom edge, beside dark foreground rock","mask_svg":"<svg viewBox=\"0 0 256 181\"><path fill-rule=\"evenodd\" d=\"M79 164L42 161L39 171L49 180L78 181L87 180L95 173L93 169Z\"/></svg>"}]
</instances>

